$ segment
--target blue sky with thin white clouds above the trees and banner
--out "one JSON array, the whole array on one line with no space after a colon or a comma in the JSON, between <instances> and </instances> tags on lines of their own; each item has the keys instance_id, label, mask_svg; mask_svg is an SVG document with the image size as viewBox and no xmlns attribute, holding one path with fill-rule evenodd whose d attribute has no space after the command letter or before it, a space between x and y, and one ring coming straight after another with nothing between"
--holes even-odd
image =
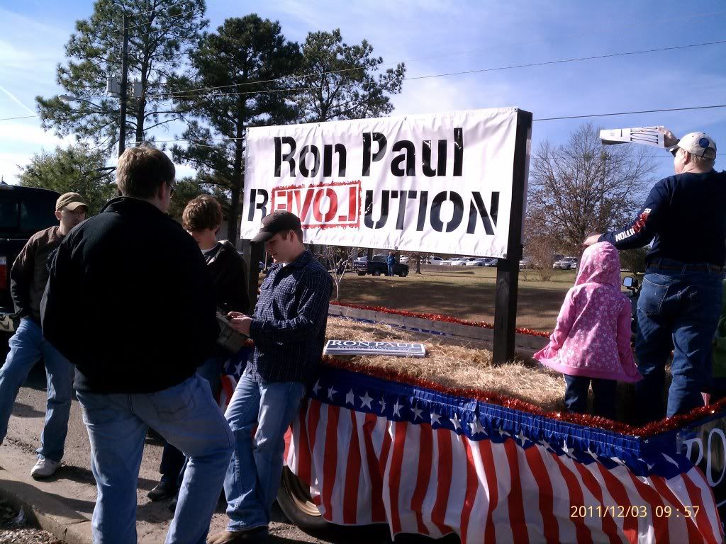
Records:
<instances>
[{"instance_id":1,"label":"blue sky with thin white clouds above the trees and banner","mask_svg":"<svg viewBox=\"0 0 726 544\"><path fill-rule=\"evenodd\" d=\"M92 7L80 0L0 0L0 118L30 115L33 96L62 93L55 67L64 62L74 22ZM720 1L208 0L211 28L250 12L279 20L285 36L298 42L309 31L333 28L350 44L367 38L387 65L406 62L409 77L726 40ZM724 104L725 68L726 44L718 44L405 81L393 97L393 115L516 106L537 119ZM533 147L543 139L564 143L585 121L536 122ZM679 136L702 130L726 149L726 108L592 121L603 128L666 125ZM157 136L174 138L181 129ZM1 121L0 174L13 182L17 165L70 141L44 133L37 119ZM670 155L655 153L658 177L672 173Z\"/></svg>"}]
</instances>

